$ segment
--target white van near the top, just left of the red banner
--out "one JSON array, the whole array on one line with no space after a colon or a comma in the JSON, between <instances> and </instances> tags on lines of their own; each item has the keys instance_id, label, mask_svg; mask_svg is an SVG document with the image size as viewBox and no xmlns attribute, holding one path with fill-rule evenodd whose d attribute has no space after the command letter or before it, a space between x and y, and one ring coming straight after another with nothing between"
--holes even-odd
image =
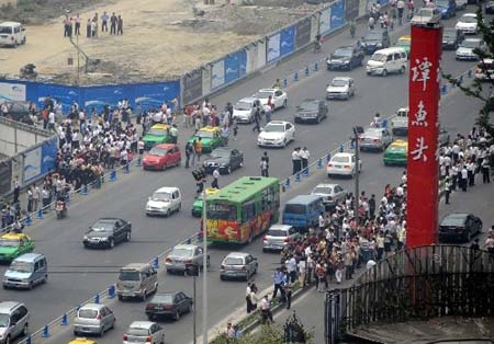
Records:
<instances>
[{"instance_id":1,"label":"white van near the top, just left of the red banner","mask_svg":"<svg viewBox=\"0 0 494 344\"><path fill-rule=\"evenodd\" d=\"M375 51L367 62L367 74L388 76L388 73L404 73L408 64L403 48L386 48Z\"/></svg>"}]
</instances>

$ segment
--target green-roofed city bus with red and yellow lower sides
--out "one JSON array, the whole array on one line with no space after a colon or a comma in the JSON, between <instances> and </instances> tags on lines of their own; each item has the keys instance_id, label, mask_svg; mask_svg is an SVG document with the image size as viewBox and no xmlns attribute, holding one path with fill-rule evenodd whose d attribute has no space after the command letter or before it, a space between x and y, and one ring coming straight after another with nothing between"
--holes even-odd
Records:
<instances>
[{"instance_id":1,"label":"green-roofed city bus with red and yellow lower sides","mask_svg":"<svg viewBox=\"0 0 494 344\"><path fill-rule=\"evenodd\" d=\"M206 200L206 238L213 242L246 243L265 232L280 215L280 181L243 176Z\"/></svg>"}]
</instances>

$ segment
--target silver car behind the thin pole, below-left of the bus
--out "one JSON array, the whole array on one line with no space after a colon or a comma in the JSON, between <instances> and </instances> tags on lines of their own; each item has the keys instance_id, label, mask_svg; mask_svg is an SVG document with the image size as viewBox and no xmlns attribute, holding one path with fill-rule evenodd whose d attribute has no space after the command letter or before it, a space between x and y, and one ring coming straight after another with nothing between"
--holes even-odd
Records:
<instances>
[{"instance_id":1,"label":"silver car behind the thin pole, below-left of the bus","mask_svg":"<svg viewBox=\"0 0 494 344\"><path fill-rule=\"evenodd\" d=\"M186 273L187 265L203 266L204 251L200 245L179 244L168 254L165 265L167 273ZM210 266L210 256L207 255L207 265Z\"/></svg>"}]
</instances>

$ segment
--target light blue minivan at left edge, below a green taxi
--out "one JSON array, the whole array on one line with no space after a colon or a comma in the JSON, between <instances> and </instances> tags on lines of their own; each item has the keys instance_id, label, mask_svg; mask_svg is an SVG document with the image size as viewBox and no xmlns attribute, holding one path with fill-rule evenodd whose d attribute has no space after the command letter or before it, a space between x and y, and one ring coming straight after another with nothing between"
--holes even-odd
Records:
<instances>
[{"instance_id":1,"label":"light blue minivan at left edge, below a green taxi","mask_svg":"<svg viewBox=\"0 0 494 344\"><path fill-rule=\"evenodd\" d=\"M40 253L25 253L10 263L3 275L3 288L32 289L48 279L46 257Z\"/></svg>"}]
</instances>

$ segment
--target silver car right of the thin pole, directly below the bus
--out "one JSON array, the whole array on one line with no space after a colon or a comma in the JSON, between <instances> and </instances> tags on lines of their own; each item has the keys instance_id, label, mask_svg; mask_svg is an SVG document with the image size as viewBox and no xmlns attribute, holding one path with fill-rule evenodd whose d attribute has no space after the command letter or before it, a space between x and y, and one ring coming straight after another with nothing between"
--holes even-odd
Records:
<instances>
[{"instance_id":1,"label":"silver car right of the thin pole, directly below the bus","mask_svg":"<svg viewBox=\"0 0 494 344\"><path fill-rule=\"evenodd\" d=\"M220 279L243 278L249 280L257 274L259 264L257 259L249 253L232 252L225 256L220 268Z\"/></svg>"}]
</instances>

